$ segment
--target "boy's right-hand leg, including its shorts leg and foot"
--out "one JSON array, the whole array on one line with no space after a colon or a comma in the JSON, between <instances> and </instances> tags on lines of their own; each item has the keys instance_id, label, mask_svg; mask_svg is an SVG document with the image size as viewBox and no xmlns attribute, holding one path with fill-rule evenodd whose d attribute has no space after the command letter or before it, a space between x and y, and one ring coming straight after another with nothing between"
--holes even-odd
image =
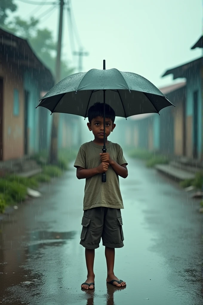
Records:
<instances>
[{"instance_id":1,"label":"boy's right-hand leg, including its shorts leg and foot","mask_svg":"<svg viewBox=\"0 0 203 305\"><path fill-rule=\"evenodd\" d=\"M104 227L102 233L102 242L105 246L105 257L107 264L107 282L112 280L120 281L114 274L114 260L115 260L115 248L121 248L124 246L124 236L122 229L122 217L120 209L105 208ZM113 285L117 287L126 286L125 282L120 284L113 282Z\"/></svg>"}]
</instances>

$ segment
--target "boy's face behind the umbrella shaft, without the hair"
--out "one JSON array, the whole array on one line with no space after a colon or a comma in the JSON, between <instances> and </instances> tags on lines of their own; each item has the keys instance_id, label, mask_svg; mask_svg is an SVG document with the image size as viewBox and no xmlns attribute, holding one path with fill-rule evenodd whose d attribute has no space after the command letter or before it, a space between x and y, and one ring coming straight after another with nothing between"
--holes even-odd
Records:
<instances>
[{"instance_id":1,"label":"boy's face behind the umbrella shaft, without the hair","mask_svg":"<svg viewBox=\"0 0 203 305\"><path fill-rule=\"evenodd\" d=\"M92 119L91 123L87 123L87 126L90 131L92 131L95 138L103 139L104 138L104 119L103 117L95 117ZM112 120L105 118L105 138L107 138L111 131L116 127L116 124L113 124Z\"/></svg>"}]
</instances>

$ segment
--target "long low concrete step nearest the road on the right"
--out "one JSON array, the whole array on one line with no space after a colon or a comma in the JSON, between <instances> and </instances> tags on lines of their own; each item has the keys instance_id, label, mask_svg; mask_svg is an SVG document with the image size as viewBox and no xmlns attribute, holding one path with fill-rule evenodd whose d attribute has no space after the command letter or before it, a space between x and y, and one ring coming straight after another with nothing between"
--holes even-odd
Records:
<instances>
[{"instance_id":1,"label":"long low concrete step nearest the road on the right","mask_svg":"<svg viewBox=\"0 0 203 305\"><path fill-rule=\"evenodd\" d=\"M170 164L167 164L167 165L157 164L155 166L155 168L162 174L165 174L166 176L172 178L173 180L175 180L177 182L183 181L186 179L195 178L194 173L188 172L186 170L180 170L179 168L173 167Z\"/></svg>"}]
</instances>

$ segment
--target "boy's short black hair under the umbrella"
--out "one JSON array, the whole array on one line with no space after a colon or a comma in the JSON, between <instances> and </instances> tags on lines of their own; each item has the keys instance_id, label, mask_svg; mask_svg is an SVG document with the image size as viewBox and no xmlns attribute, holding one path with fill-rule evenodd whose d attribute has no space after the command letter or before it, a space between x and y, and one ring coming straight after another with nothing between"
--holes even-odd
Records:
<instances>
[{"instance_id":1,"label":"boy's short black hair under the umbrella","mask_svg":"<svg viewBox=\"0 0 203 305\"><path fill-rule=\"evenodd\" d=\"M104 117L104 104L100 102L94 103L94 105L88 109L87 116L90 124L95 117ZM105 104L105 118L111 119L114 123L115 117L116 113L113 108L110 105Z\"/></svg>"}]
</instances>

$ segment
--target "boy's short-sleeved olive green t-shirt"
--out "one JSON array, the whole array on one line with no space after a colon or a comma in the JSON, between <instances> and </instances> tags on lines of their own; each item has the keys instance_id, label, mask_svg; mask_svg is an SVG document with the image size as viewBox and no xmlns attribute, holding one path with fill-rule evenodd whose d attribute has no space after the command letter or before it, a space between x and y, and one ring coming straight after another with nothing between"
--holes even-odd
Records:
<instances>
[{"instance_id":1,"label":"boy's short-sleeved olive green t-shirt","mask_svg":"<svg viewBox=\"0 0 203 305\"><path fill-rule=\"evenodd\" d=\"M79 148L74 167L79 166L85 169L98 167L101 163L101 156L99 154L102 153L102 148L103 146L94 144L93 141L82 144ZM106 145L106 152L119 165L127 165L123 150L119 144L109 141L109 144ZM96 206L124 209L119 177L110 165L106 171L106 182L101 182L101 174L96 174L86 179L83 210Z\"/></svg>"}]
</instances>

